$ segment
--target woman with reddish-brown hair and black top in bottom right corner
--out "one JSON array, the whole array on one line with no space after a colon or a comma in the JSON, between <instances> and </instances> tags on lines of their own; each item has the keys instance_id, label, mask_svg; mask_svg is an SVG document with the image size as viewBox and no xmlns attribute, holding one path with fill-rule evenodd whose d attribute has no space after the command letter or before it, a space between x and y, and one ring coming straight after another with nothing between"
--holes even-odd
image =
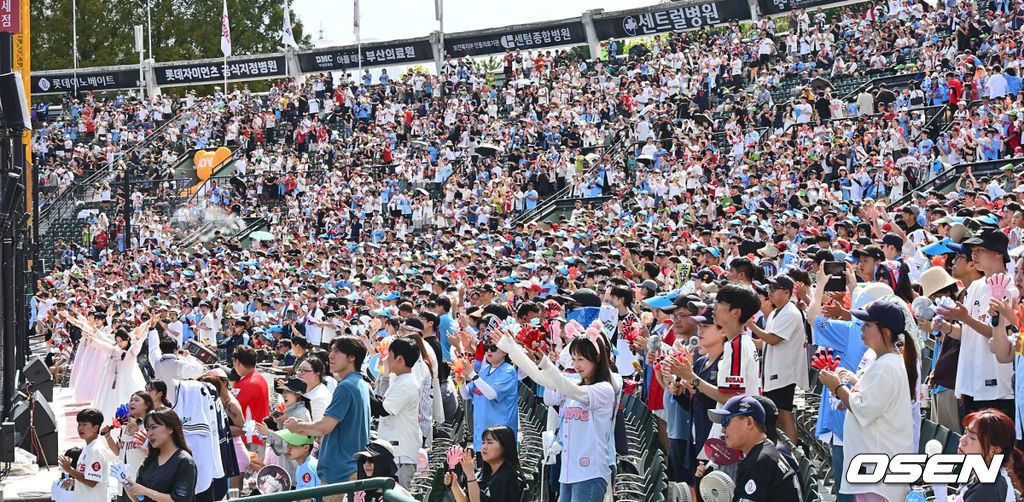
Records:
<instances>
[{"instance_id":1,"label":"woman with reddish-brown hair and black top in bottom right corner","mask_svg":"<svg viewBox=\"0 0 1024 502\"><path fill-rule=\"evenodd\" d=\"M964 435L956 453L981 455L985 464L991 464L993 456L1001 454L1002 463L995 483L980 483L972 474L971 480L956 491L958 500L1017 500L1014 489L1022 489L1024 456L1015 447L1014 431L1014 420L992 408L974 412L964 418Z\"/></svg>"}]
</instances>

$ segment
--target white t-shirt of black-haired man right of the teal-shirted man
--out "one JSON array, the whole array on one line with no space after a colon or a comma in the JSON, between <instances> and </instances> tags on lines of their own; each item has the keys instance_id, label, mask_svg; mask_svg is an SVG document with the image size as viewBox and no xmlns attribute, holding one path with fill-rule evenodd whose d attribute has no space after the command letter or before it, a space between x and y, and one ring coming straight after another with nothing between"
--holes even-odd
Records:
<instances>
[{"instance_id":1,"label":"white t-shirt of black-haired man right of the teal-shirted man","mask_svg":"<svg viewBox=\"0 0 1024 502\"><path fill-rule=\"evenodd\" d=\"M392 375L382 404L390 415L381 417L378 435L391 443L396 463L416 462L423 442L419 422L420 382L412 373Z\"/></svg>"}]
</instances>

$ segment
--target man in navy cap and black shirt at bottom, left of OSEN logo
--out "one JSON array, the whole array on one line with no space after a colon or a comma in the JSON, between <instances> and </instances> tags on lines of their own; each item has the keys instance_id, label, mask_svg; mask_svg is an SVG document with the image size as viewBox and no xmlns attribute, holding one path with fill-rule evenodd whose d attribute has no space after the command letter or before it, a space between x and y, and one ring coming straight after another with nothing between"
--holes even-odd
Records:
<instances>
[{"instance_id":1,"label":"man in navy cap and black shirt at bottom, left of OSEN logo","mask_svg":"<svg viewBox=\"0 0 1024 502\"><path fill-rule=\"evenodd\" d=\"M721 410L709 410L722 422L725 444L743 453L736 469L735 502L799 501L800 479L765 434L765 410L756 399L737 395Z\"/></svg>"}]
</instances>

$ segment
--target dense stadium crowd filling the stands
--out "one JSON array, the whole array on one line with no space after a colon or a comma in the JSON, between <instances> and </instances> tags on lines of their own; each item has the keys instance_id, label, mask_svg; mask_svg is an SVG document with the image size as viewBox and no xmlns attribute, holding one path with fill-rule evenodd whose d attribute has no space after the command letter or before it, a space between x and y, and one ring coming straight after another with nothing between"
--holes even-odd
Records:
<instances>
[{"instance_id":1,"label":"dense stadium crowd filling the stands","mask_svg":"<svg viewBox=\"0 0 1024 502\"><path fill-rule=\"evenodd\" d=\"M1020 2L879 2L590 60L510 50L500 81L449 57L439 76L70 101L35 155L55 194L98 173L108 206L32 300L89 405L54 496L220 500L269 490L264 465L284 489L412 489L465 421L472 449L440 475L455 500L620 499L632 396L673 484L809 500L797 457L818 448L839 500L902 501L920 487L843 474L918 453L931 422L963 434L954 452L1004 454L963 500L1016 500L1022 25ZM877 75L909 78L833 84ZM174 160L218 145L230 176L180 196ZM986 162L1006 167L964 167ZM178 245L251 217L268 238ZM524 393L550 407L544 486L518 453Z\"/></svg>"}]
</instances>

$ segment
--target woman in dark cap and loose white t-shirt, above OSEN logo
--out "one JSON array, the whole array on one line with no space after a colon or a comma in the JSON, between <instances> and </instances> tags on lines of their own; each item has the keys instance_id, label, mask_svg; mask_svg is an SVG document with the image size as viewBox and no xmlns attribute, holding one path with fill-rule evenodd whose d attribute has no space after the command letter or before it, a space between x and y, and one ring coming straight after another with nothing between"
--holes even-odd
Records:
<instances>
[{"instance_id":1,"label":"woman in dark cap and loose white t-shirt, above OSEN logo","mask_svg":"<svg viewBox=\"0 0 1024 502\"><path fill-rule=\"evenodd\" d=\"M911 402L916 398L918 349L906 334L907 318L896 302L877 300L851 312L864 322L861 337L874 360L856 375L850 370L822 370L819 380L848 413L843 426L843 471L861 453L897 455L916 451ZM902 351L902 355L900 352ZM850 484L840 493L858 502L903 500L909 485Z\"/></svg>"}]
</instances>

